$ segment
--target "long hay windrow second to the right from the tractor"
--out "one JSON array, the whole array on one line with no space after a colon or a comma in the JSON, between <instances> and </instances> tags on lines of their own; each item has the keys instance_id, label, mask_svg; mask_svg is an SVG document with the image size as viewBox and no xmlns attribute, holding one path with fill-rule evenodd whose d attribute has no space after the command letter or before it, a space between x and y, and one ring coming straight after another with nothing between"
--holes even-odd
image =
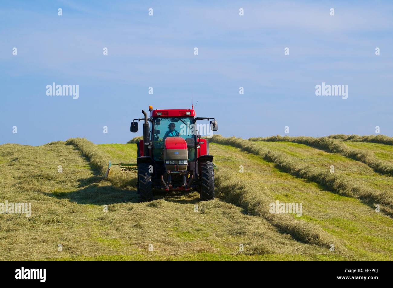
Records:
<instances>
[{"instance_id":1,"label":"long hay windrow second to the right from the tractor","mask_svg":"<svg viewBox=\"0 0 393 288\"><path fill-rule=\"evenodd\" d=\"M380 204L382 211L388 215L393 215L393 199L385 191L375 191L368 187L355 184L349 178L326 171L319 171L316 167L310 165L303 166L285 153L273 152L245 139L236 137L225 138L221 135L214 135L209 141L231 145L243 151L259 155L264 160L277 164L281 170L296 177L311 180L325 186L331 191L338 192L344 196L358 198L367 204Z\"/></svg>"}]
</instances>

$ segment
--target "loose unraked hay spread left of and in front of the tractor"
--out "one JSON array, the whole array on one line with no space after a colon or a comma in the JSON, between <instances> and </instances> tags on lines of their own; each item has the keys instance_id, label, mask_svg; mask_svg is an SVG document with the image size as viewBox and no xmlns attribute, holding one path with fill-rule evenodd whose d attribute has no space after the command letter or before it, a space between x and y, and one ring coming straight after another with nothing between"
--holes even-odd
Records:
<instances>
[{"instance_id":1,"label":"loose unraked hay spread left of and in front of the tractor","mask_svg":"<svg viewBox=\"0 0 393 288\"><path fill-rule=\"evenodd\" d=\"M128 147L119 145L118 156ZM105 150L114 150L113 145L95 148L105 157ZM190 260L344 259L293 240L236 205L220 199L199 202L195 191L157 193L154 201L140 203L135 187L108 185L81 150L64 142L0 145L0 159L0 199L32 203L31 217L0 217L0 260L184 260L191 254ZM148 251L149 244L154 251Z\"/></svg>"}]
</instances>

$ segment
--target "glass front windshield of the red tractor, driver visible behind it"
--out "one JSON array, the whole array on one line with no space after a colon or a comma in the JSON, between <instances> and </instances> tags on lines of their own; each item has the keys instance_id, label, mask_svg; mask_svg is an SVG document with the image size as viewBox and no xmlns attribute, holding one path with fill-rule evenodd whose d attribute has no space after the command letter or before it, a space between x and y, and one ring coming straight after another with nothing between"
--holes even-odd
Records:
<instances>
[{"instance_id":1,"label":"glass front windshield of the red tractor, driver visible behind it","mask_svg":"<svg viewBox=\"0 0 393 288\"><path fill-rule=\"evenodd\" d=\"M194 160L193 117L154 117L154 160L163 161L163 144L168 137L182 137L187 142L188 160Z\"/></svg>"}]
</instances>

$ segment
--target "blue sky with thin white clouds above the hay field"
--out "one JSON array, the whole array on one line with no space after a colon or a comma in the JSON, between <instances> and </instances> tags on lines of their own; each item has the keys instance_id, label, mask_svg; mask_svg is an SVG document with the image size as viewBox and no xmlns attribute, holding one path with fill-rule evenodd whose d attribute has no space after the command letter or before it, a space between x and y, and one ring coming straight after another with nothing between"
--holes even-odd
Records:
<instances>
[{"instance_id":1,"label":"blue sky with thin white clouds above the hay field","mask_svg":"<svg viewBox=\"0 0 393 288\"><path fill-rule=\"evenodd\" d=\"M390 1L2 1L0 144L125 143L142 109L192 95L224 136L393 136L392 36ZM348 99L316 96L322 82Z\"/></svg>"}]
</instances>

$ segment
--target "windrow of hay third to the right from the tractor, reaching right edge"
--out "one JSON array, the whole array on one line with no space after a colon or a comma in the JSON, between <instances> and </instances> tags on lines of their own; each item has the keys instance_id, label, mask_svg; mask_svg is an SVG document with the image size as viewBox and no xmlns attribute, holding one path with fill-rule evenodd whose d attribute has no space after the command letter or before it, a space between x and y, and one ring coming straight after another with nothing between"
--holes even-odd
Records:
<instances>
[{"instance_id":1,"label":"windrow of hay third to the right from the tractor, reaching right edge","mask_svg":"<svg viewBox=\"0 0 393 288\"><path fill-rule=\"evenodd\" d=\"M345 157L352 158L357 161L361 161L374 169L376 172L382 174L389 174L393 176L393 165L387 161L378 160L375 156L369 152L365 152L361 149L354 149L348 147L341 141L338 141L329 137L308 137L308 136L271 136L271 137L256 137L250 138L250 141L287 141L298 144L305 144L317 149L327 150L331 153L339 153Z\"/></svg>"}]
</instances>

